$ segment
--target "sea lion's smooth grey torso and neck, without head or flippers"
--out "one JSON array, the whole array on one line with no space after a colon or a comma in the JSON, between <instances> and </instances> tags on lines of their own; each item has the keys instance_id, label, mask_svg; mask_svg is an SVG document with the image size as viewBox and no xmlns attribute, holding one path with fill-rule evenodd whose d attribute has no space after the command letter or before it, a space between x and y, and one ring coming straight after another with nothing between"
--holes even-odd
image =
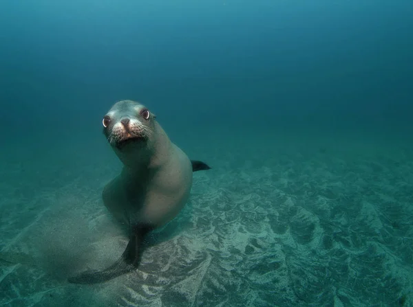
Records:
<instances>
[{"instance_id":1,"label":"sea lion's smooth grey torso and neck, without head or flippers","mask_svg":"<svg viewBox=\"0 0 413 307\"><path fill-rule=\"evenodd\" d=\"M191 160L173 144L156 123L156 166L129 170L103 190L103 202L120 223L142 223L162 227L187 203L192 185Z\"/></svg>"}]
</instances>

